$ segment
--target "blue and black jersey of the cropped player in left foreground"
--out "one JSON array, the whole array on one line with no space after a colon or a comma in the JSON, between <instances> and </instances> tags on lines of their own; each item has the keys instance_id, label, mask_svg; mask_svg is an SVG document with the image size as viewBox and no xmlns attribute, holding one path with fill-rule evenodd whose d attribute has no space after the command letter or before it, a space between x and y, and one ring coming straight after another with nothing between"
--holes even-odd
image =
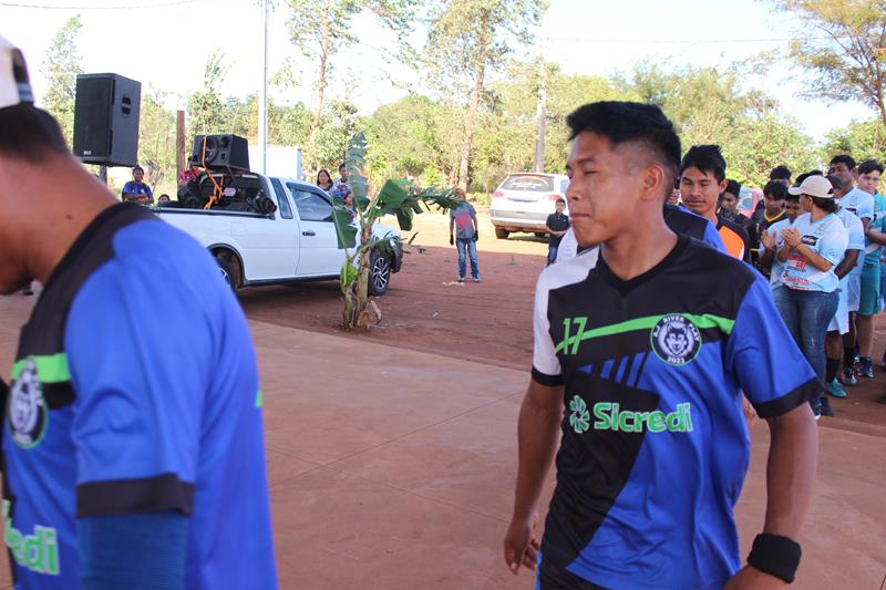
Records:
<instances>
[{"instance_id":1,"label":"blue and black jersey of the cropped player in left foreground","mask_svg":"<svg viewBox=\"0 0 886 590\"><path fill-rule=\"evenodd\" d=\"M18 588L76 589L76 519L189 516L187 588L275 588L256 358L213 258L119 205L22 328L3 424Z\"/></svg>"}]
</instances>

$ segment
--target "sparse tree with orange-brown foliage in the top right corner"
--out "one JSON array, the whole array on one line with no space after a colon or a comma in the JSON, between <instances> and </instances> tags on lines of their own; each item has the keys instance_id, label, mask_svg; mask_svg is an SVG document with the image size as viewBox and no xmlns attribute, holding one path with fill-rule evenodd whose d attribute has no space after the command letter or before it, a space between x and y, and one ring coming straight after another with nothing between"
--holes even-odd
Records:
<instances>
[{"instance_id":1,"label":"sparse tree with orange-brown foliage in the top right corner","mask_svg":"<svg viewBox=\"0 0 886 590\"><path fill-rule=\"evenodd\" d=\"M813 74L810 96L857 99L886 124L886 2L883 0L776 0L804 23L791 55ZM821 32L822 40L815 39Z\"/></svg>"}]
</instances>

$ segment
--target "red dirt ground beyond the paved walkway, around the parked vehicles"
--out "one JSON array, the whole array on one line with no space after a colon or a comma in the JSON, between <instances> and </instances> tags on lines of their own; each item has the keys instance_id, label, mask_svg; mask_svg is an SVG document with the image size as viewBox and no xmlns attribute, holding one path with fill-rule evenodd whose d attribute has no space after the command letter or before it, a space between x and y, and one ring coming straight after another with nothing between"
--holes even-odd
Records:
<instances>
[{"instance_id":1,"label":"red dirt ground beyond the paved walkway, around the parked vehicles","mask_svg":"<svg viewBox=\"0 0 886 590\"><path fill-rule=\"evenodd\" d=\"M412 249L391 287L377 300L382 322L370 332L342 332L341 297L336 282L246 289L240 302L247 315L289 328L300 328L368 342L478 361L507 369L532 363L533 292L545 265L547 244L527 234L495 239L488 218L481 214L477 242L480 284L444 284L457 277L455 248L447 244L447 219L425 214L416 218ZM877 322L874 359L886 346L886 320ZM878 363L877 363L878 364ZM886 373L861 379L847 387L847 400L832 400L836 418L823 425L886 436L886 405L876 398L886 393Z\"/></svg>"}]
</instances>

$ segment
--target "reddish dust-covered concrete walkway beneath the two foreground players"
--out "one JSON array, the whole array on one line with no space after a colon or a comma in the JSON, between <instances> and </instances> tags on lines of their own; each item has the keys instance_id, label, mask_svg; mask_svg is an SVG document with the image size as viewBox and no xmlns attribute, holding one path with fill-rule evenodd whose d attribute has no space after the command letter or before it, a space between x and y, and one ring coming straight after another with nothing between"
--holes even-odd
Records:
<instances>
[{"instance_id":1,"label":"reddish dust-covered concrete walkway beneath the two foreground players","mask_svg":"<svg viewBox=\"0 0 886 590\"><path fill-rule=\"evenodd\" d=\"M0 299L2 366L30 308L23 300ZM281 588L533 587L502 558L528 371L250 325ZM876 590L886 576L886 427L820 432L795 587ZM764 425L753 434L738 510L744 555L765 510L769 437Z\"/></svg>"}]
</instances>

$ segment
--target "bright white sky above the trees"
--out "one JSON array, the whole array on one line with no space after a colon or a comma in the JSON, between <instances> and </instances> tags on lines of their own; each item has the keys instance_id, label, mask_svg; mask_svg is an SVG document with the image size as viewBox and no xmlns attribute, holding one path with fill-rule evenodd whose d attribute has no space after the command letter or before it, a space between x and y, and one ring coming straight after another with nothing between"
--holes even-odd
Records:
<instances>
[{"instance_id":1,"label":"bright white sky above the trees","mask_svg":"<svg viewBox=\"0 0 886 590\"><path fill-rule=\"evenodd\" d=\"M269 19L269 72L289 61L296 64L298 85L271 93L311 104L315 71L289 41L286 2L277 3ZM202 87L206 58L216 49L233 61L223 94L245 96L261 84L257 0L0 0L0 35L24 52L38 102L45 90L41 64L52 38L74 14L83 22L78 46L86 73L114 72L141 81L143 93L168 92L171 107L184 107L184 96ZM547 19L547 34L539 22L538 43L524 52L543 51L565 72L578 74L627 72L647 59L673 66L725 66L762 50L785 51L786 39L804 33L800 19L759 0L550 0ZM348 95L361 114L371 114L410 89L423 90L419 74L387 59L394 46L390 32L369 17L358 19L357 30L362 42L336 58L330 97ZM423 35L418 24L410 38L416 49ZM873 116L858 103L799 99L804 75L782 59L766 77L745 84L776 97L816 139L853 118Z\"/></svg>"}]
</instances>

